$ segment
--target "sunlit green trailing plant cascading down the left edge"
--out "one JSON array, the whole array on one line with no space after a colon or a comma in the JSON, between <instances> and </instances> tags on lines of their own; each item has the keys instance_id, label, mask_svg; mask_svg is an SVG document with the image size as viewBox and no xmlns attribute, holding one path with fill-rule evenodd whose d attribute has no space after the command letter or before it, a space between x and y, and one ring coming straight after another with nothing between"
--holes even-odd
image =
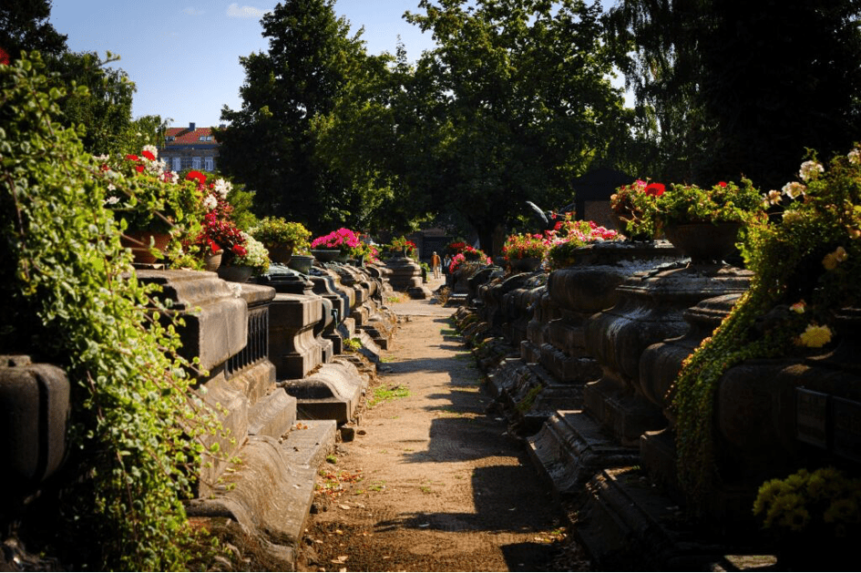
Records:
<instances>
[{"instance_id":1,"label":"sunlit green trailing plant cascading down the left edge","mask_svg":"<svg viewBox=\"0 0 861 573\"><path fill-rule=\"evenodd\" d=\"M138 281L106 207L108 184L135 179L106 179L56 122L63 95L37 53L0 65L0 348L73 383L62 486L43 492L59 541L44 549L80 569L186 569L182 499L218 427L177 353L179 322Z\"/></svg>"}]
</instances>

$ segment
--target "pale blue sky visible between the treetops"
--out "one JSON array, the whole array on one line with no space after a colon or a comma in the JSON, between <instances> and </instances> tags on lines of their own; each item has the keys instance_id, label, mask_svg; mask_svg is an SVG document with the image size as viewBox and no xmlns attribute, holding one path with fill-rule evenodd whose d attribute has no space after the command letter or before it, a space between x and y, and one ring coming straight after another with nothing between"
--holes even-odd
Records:
<instances>
[{"instance_id":1,"label":"pale blue sky visible between the treetops","mask_svg":"<svg viewBox=\"0 0 861 573\"><path fill-rule=\"evenodd\" d=\"M53 0L51 24L68 36L73 51L106 51L135 82L132 114L171 118L174 127L220 123L221 107L241 107L245 79L239 57L265 51L260 19L276 0ZM605 2L606 4L606 2ZM406 11L418 0L336 0L335 12L364 26L371 54L395 53L398 36L407 57L417 59L434 45L430 34L408 24ZM109 8L108 8L109 6Z\"/></svg>"}]
</instances>

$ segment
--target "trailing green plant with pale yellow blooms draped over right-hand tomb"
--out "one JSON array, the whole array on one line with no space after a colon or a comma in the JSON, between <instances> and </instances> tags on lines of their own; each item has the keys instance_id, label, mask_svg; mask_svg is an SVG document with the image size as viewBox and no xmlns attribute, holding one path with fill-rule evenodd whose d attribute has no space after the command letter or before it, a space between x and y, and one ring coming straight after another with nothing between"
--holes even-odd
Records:
<instances>
[{"instance_id":1,"label":"trailing green plant with pale yellow blooms draped over right-hand tomb","mask_svg":"<svg viewBox=\"0 0 861 573\"><path fill-rule=\"evenodd\" d=\"M799 176L761 198L788 205L774 223L750 227L743 256L751 287L671 388L679 476L695 512L719 478L712 413L723 373L748 359L824 352L840 334L839 310L861 302L861 152L835 157L827 170L805 161Z\"/></svg>"}]
</instances>

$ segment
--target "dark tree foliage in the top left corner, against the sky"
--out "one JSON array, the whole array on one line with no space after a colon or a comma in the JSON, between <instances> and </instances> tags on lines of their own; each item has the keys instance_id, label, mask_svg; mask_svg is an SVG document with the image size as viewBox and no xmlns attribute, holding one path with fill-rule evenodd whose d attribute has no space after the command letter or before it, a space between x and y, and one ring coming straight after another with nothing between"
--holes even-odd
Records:
<instances>
[{"instance_id":1,"label":"dark tree foliage in the top left corner, against the sky","mask_svg":"<svg viewBox=\"0 0 861 573\"><path fill-rule=\"evenodd\" d=\"M67 51L66 38L48 22L50 0L4 0L0 4L0 48L12 58L38 50L46 56Z\"/></svg>"}]
</instances>

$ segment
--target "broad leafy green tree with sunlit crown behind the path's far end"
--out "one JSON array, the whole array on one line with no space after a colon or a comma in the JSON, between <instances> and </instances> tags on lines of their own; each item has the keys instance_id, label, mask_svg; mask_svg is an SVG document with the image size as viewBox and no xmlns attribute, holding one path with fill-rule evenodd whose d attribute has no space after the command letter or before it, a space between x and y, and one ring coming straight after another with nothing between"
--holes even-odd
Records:
<instances>
[{"instance_id":1,"label":"broad leafy green tree with sunlit crown behind the path's far end","mask_svg":"<svg viewBox=\"0 0 861 573\"><path fill-rule=\"evenodd\" d=\"M571 180L627 138L600 6L581 0L422 0L407 19L438 47L419 61L415 126L433 165L412 185L458 211L492 251L526 200L568 203Z\"/></svg>"}]
</instances>

